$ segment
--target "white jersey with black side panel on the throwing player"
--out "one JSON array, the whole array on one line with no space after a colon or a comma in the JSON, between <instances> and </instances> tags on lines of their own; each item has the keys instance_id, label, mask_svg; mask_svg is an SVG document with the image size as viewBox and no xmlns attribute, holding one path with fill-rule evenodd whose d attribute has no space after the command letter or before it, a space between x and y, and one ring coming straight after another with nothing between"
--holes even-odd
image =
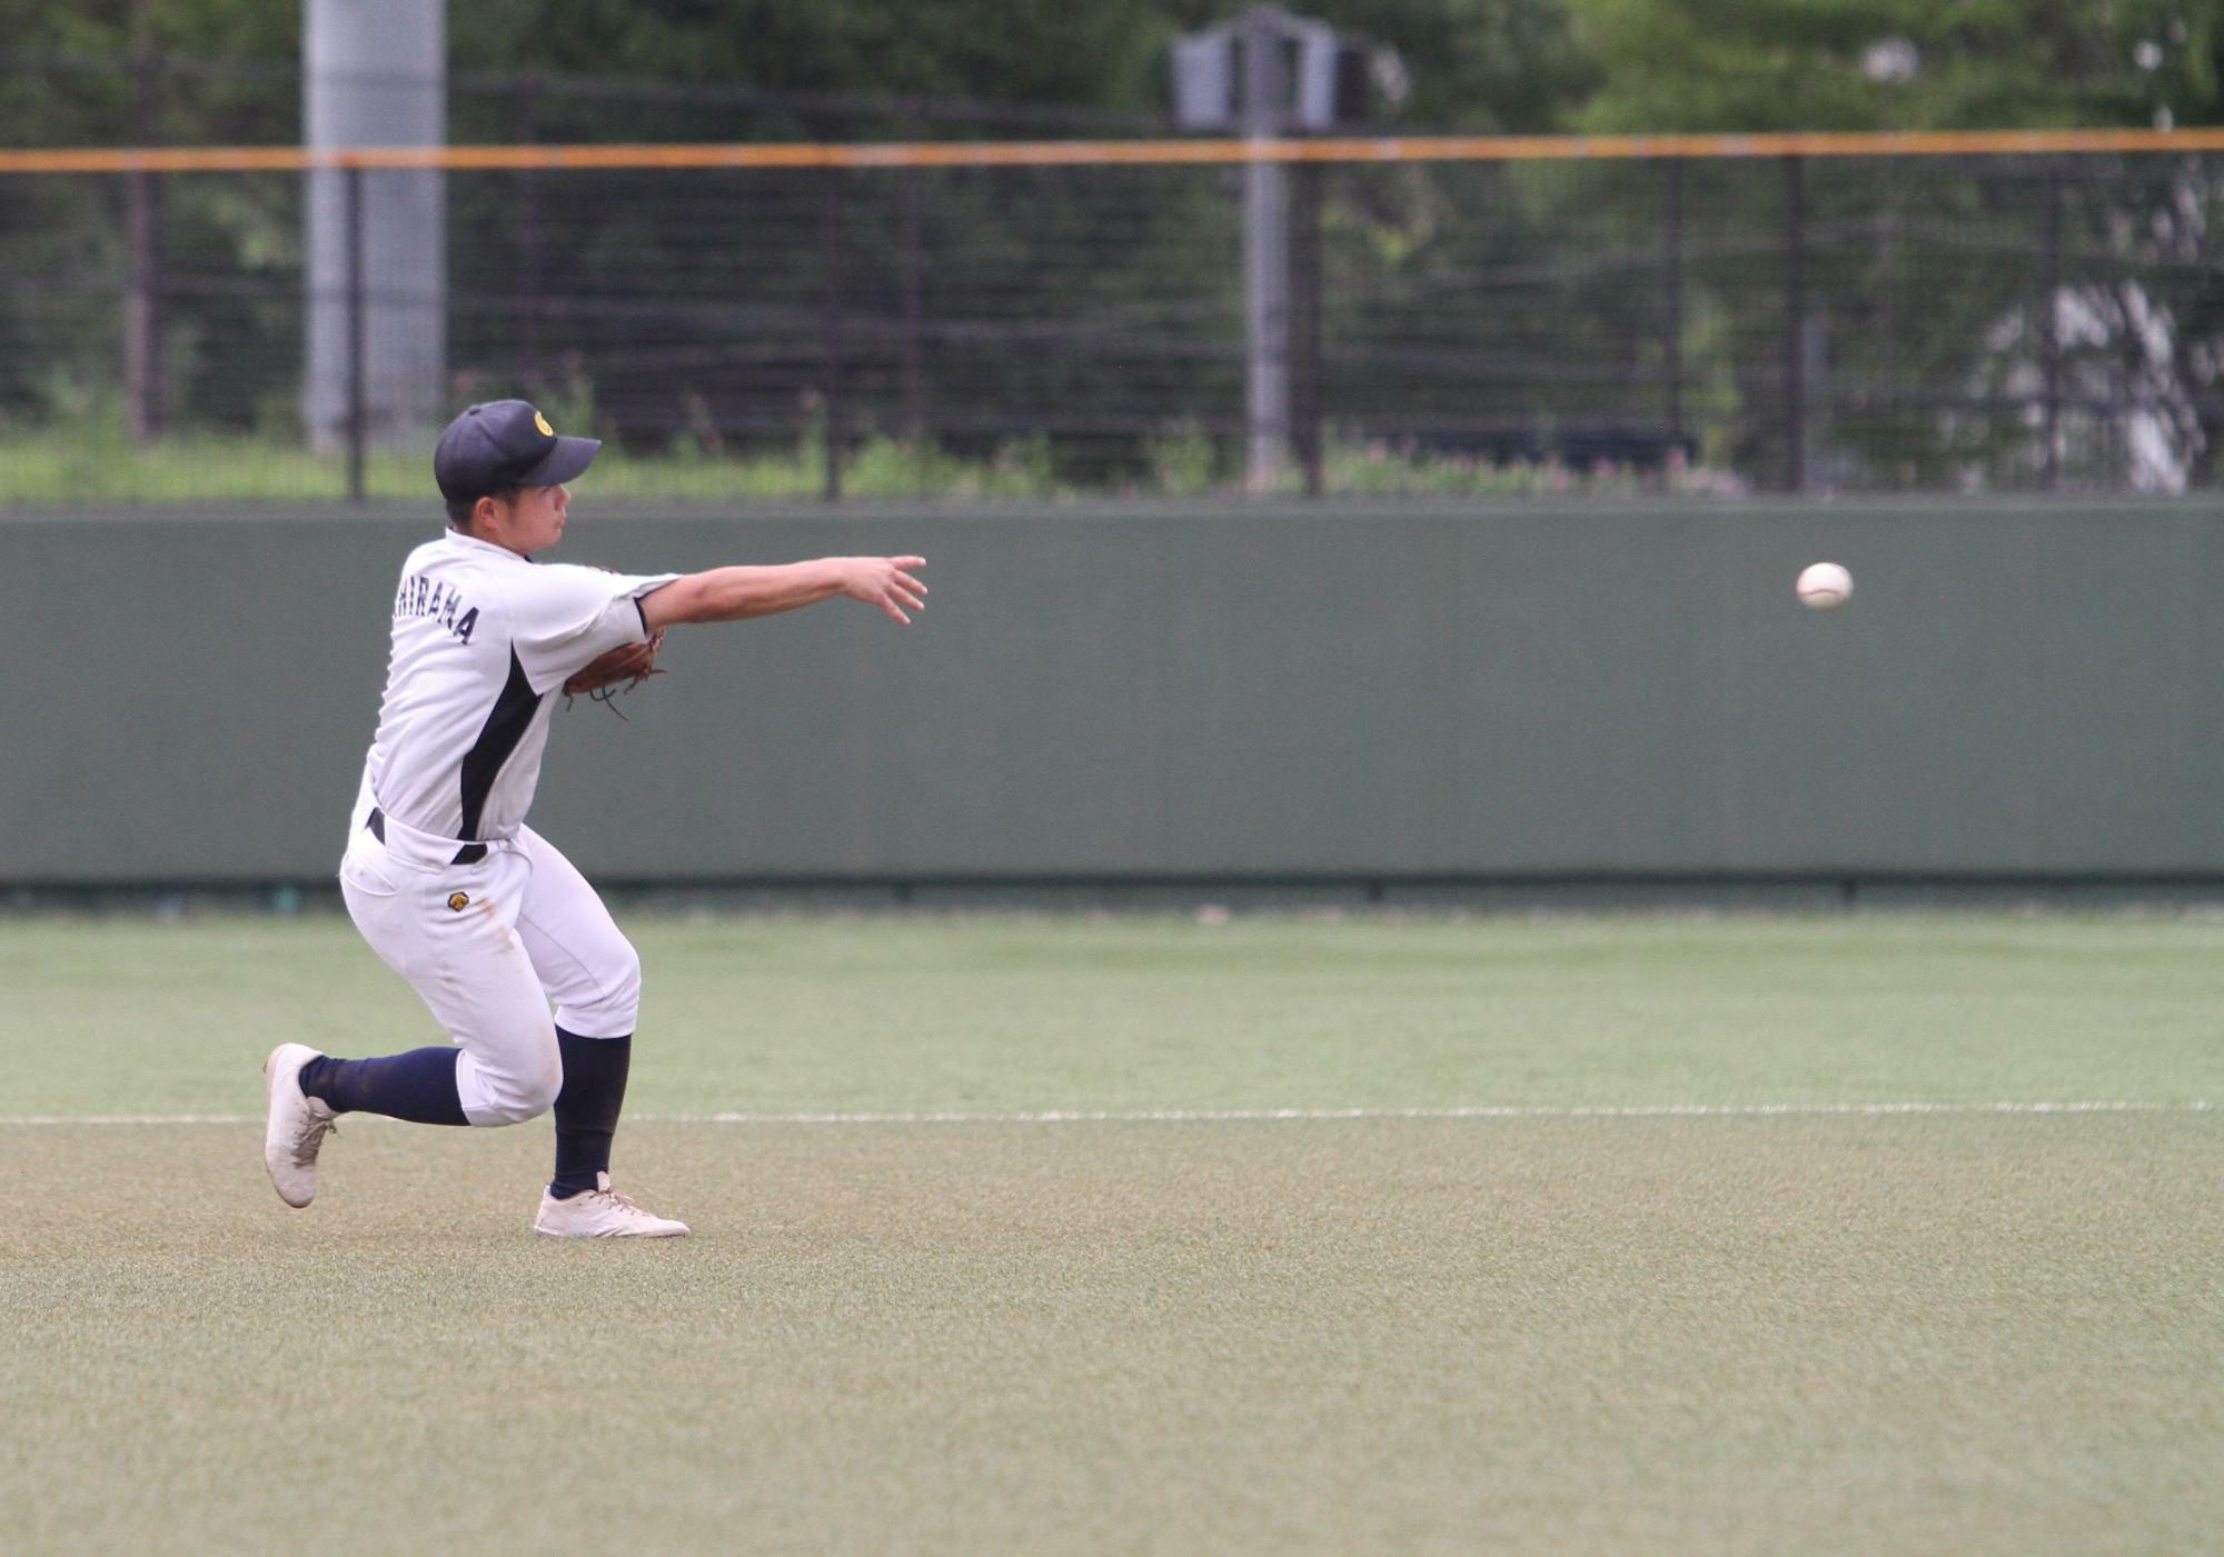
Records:
<instances>
[{"instance_id":1,"label":"white jersey with black side panel on the throwing player","mask_svg":"<svg viewBox=\"0 0 2224 1557\"><path fill-rule=\"evenodd\" d=\"M540 785L552 694L598 654L645 643L641 596L674 578L534 563L456 529L420 545L394 592L363 794L440 839L514 836Z\"/></svg>"}]
</instances>

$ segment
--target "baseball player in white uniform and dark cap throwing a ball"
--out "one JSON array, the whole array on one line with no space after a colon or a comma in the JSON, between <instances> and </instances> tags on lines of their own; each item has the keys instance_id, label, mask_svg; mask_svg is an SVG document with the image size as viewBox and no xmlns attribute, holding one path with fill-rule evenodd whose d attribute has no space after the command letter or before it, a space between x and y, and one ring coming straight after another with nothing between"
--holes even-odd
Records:
<instances>
[{"instance_id":1,"label":"baseball player in white uniform and dark cap throwing a ball","mask_svg":"<svg viewBox=\"0 0 2224 1557\"><path fill-rule=\"evenodd\" d=\"M340 894L454 1045L334 1059L280 1043L262 1061L262 1163L287 1206L347 1112L509 1125L554 1108L556 1174L534 1232L674 1237L609 1188L641 959L587 879L525 825L560 690L645 676L663 632L850 596L910 623L916 556L827 556L703 574L540 563L567 480L600 445L560 438L525 400L474 405L440 434L449 529L403 563L378 736L349 816ZM554 1005L554 1016L549 1014Z\"/></svg>"}]
</instances>

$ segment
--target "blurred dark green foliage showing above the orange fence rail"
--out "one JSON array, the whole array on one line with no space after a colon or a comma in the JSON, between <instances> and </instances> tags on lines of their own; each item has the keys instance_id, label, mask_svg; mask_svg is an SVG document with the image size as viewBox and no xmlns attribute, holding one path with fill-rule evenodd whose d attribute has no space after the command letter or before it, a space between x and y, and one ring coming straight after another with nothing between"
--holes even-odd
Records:
<instances>
[{"instance_id":1,"label":"blurred dark green foliage showing above the orange fence rail","mask_svg":"<svg viewBox=\"0 0 2224 1557\"><path fill-rule=\"evenodd\" d=\"M1292 9L1394 47L1412 80L1403 120L1423 129L1953 129L2224 116L2224 13L2193 0L1312 0ZM694 138L810 133L927 107L970 107L981 120L999 107L1143 120L1163 113L1165 44L1239 11L1225 0L492 0L451 16L454 116L507 138L512 87L523 82L552 93L534 113L583 129L654 102L563 93L565 82L600 80L665 89L667 105L696 118ZM298 4L0 0L0 138L11 145L127 142L140 125L169 142L294 138ZM120 69L140 53L167 60L151 122L138 78ZM709 96L678 91L689 87ZM716 102L747 91L761 98Z\"/></svg>"}]
</instances>

